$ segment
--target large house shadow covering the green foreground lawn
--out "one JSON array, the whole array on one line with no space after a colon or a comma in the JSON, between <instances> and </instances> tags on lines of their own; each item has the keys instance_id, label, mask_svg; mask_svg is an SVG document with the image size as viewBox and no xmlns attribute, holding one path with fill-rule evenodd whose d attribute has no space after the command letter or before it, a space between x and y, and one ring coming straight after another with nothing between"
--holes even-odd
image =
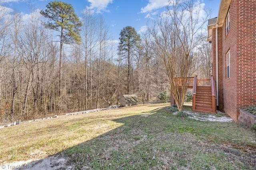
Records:
<instances>
[{"instance_id":1,"label":"large house shadow covering the green foreground lawn","mask_svg":"<svg viewBox=\"0 0 256 170\"><path fill-rule=\"evenodd\" d=\"M226 130L239 130L236 124L182 119L166 114L165 110L166 107L158 108L141 115L115 119L114 122L123 125L58 154L31 162L27 167L36 170L231 170L256 166L256 150L246 152L221 144L225 143L221 140L230 140L224 133ZM244 131L240 130L242 134Z\"/></svg>"}]
</instances>

